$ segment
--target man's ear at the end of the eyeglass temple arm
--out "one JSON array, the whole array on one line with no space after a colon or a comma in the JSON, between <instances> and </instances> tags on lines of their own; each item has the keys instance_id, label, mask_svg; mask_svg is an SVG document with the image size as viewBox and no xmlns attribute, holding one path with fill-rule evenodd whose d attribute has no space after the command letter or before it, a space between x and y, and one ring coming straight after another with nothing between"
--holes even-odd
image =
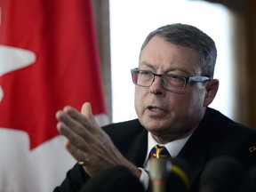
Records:
<instances>
[{"instance_id":1,"label":"man's ear at the end of the eyeglass temple arm","mask_svg":"<svg viewBox=\"0 0 256 192\"><path fill-rule=\"evenodd\" d=\"M212 79L211 81L206 83L206 92L204 98L204 107L209 106L214 100L216 93L219 89L219 80Z\"/></svg>"}]
</instances>

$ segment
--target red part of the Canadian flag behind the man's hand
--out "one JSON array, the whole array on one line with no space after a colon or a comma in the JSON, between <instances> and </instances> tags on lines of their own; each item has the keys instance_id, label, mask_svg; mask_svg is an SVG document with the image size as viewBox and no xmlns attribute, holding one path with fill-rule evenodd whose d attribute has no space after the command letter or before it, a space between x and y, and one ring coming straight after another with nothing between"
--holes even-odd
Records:
<instances>
[{"instance_id":1,"label":"red part of the Canadian flag behind the man's hand","mask_svg":"<svg viewBox=\"0 0 256 192\"><path fill-rule=\"evenodd\" d=\"M55 112L92 102L106 114L92 3L1 0L0 45L34 52L36 61L0 77L0 126L28 132L30 147L58 135ZM1 63L4 65L8 63Z\"/></svg>"}]
</instances>

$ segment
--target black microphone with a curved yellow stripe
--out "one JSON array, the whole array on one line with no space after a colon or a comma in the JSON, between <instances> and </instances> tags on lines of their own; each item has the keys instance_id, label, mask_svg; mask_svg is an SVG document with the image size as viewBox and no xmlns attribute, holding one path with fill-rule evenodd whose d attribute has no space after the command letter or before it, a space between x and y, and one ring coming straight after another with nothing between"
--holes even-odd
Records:
<instances>
[{"instance_id":1,"label":"black microphone with a curved yellow stripe","mask_svg":"<svg viewBox=\"0 0 256 192\"><path fill-rule=\"evenodd\" d=\"M181 158L172 159L171 172L168 175L167 191L186 192L190 188L190 169Z\"/></svg>"}]
</instances>

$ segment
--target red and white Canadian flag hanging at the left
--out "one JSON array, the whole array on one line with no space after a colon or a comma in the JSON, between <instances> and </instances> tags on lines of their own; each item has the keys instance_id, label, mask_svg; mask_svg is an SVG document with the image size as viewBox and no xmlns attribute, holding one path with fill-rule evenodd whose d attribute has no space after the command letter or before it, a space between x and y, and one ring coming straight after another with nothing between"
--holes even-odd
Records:
<instances>
[{"instance_id":1,"label":"red and white Canadian flag hanging at the left","mask_svg":"<svg viewBox=\"0 0 256 192\"><path fill-rule=\"evenodd\" d=\"M49 192L75 159L55 113L108 123L91 0L0 0L0 191Z\"/></svg>"}]
</instances>

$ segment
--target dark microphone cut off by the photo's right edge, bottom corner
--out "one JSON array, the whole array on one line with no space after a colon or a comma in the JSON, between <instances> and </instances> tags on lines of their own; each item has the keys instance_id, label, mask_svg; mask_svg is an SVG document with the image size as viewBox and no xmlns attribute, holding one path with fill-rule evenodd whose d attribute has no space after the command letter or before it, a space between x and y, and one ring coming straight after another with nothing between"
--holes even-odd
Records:
<instances>
[{"instance_id":1,"label":"dark microphone cut off by the photo's right edge, bottom corner","mask_svg":"<svg viewBox=\"0 0 256 192\"><path fill-rule=\"evenodd\" d=\"M256 191L256 167L252 167L244 176L240 192Z\"/></svg>"}]
</instances>

